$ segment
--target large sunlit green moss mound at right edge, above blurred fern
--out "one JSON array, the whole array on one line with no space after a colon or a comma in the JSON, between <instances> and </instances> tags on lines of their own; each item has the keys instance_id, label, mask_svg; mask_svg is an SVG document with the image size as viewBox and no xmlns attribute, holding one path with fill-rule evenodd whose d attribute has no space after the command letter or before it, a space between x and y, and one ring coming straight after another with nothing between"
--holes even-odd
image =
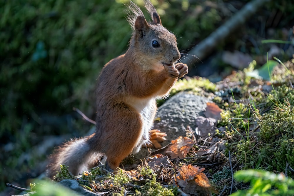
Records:
<instances>
[{"instance_id":1,"label":"large sunlit green moss mound at right edge, above blurred fern","mask_svg":"<svg viewBox=\"0 0 294 196\"><path fill-rule=\"evenodd\" d=\"M236 147L237 157L242 160L244 168L287 172L293 177L294 172L289 169L294 167L293 93L293 89L287 86L276 88L266 101L272 105L272 110L263 115L254 113L260 130L253 141L240 141Z\"/></svg>"}]
</instances>

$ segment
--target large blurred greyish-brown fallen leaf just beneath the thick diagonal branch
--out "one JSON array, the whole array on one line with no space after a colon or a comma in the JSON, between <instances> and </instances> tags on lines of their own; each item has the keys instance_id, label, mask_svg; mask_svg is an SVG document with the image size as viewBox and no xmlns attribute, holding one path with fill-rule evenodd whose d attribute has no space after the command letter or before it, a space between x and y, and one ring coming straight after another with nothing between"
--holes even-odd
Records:
<instances>
[{"instance_id":1,"label":"large blurred greyish-brown fallen leaf just beneath the thick diagonal branch","mask_svg":"<svg viewBox=\"0 0 294 196\"><path fill-rule=\"evenodd\" d=\"M249 54L244 54L240 51L224 51L222 55L222 60L225 63L228 63L232 67L238 69L244 69L248 67L249 63L253 60Z\"/></svg>"}]
</instances>

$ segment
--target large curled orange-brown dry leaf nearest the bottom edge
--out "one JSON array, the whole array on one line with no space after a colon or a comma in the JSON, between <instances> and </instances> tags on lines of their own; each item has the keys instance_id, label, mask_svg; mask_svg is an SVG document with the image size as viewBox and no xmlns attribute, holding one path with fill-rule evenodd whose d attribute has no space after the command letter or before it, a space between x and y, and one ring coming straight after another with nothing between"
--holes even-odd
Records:
<instances>
[{"instance_id":1,"label":"large curled orange-brown dry leaf nearest the bottom edge","mask_svg":"<svg viewBox=\"0 0 294 196\"><path fill-rule=\"evenodd\" d=\"M193 195L211 195L216 192L208 178L202 173L205 168L183 165L176 175L176 183L183 191Z\"/></svg>"}]
</instances>

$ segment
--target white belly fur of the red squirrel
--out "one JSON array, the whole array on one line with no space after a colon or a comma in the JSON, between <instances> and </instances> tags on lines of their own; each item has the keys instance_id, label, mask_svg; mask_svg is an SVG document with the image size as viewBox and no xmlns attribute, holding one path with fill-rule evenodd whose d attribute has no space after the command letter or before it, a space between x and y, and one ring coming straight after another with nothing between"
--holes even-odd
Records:
<instances>
[{"instance_id":1,"label":"white belly fur of the red squirrel","mask_svg":"<svg viewBox=\"0 0 294 196\"><path fill-rule=\"evenodd\" d=\"M138 153L141 146L149 142L149 131L153 126L153 118L156 112L156 98L138 99L131 98L128 104L133 106L137 112L141 115L143 126L141 135L137 140L135 147L133 148L133 154Z\"/></svg>"}]
</instances>

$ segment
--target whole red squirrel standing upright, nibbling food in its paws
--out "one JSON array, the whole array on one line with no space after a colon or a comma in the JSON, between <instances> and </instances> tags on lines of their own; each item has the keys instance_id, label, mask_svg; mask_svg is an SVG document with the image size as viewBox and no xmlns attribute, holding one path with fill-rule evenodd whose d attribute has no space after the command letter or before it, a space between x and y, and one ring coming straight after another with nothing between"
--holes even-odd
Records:
<instances>
[{"instance_id":1,"label":"whole red squirrel standing upright, nibbling food in its paws","mask_svg":"<svg viewBox=\"0 0 294 196\"><path fill-rule=\"evenodd\" d=\"M176 37L161 25L161 19L149 0L144 4L152 21L147 22L132 1L128 22L133 29L125 54L109 61L96 86L96 130L90 136L62 144L49 158L47 175L52 177L60 164L78 175L97 164L106 155L105 167L114 171L131 153L149 142L157 110L156 99L166 98L188 67L176 63L181 55Z\"/></svg>"}]
</instances>

